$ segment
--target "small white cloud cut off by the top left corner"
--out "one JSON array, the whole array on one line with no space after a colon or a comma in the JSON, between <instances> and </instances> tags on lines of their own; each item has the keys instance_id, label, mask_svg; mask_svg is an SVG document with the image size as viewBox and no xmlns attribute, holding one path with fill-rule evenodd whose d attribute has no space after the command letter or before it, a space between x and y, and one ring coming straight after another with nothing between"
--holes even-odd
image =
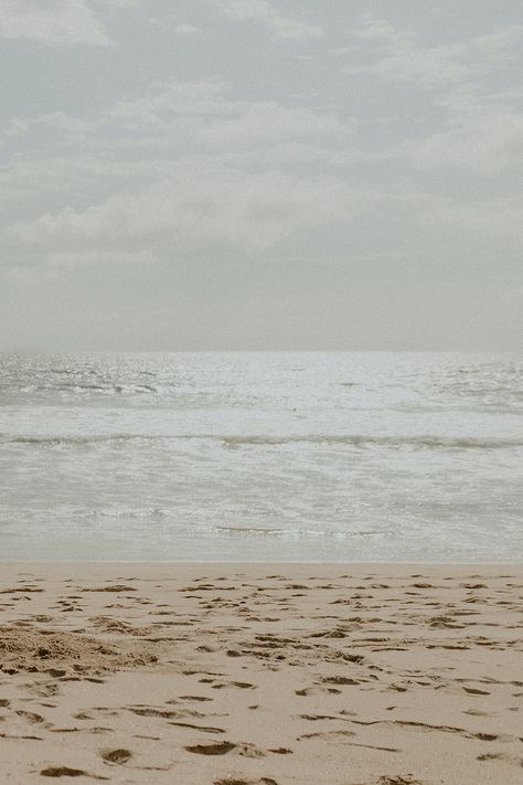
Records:
<instances>
[{"instance_id":1,"label":"small white cloud cut off by the top left corner","mask_svg":"<svg viewBox=\"0 0 523 785\"><path fill-rule=\"evenodd\" d=\"M2 0L0 38L31 39L50 45L110 43L84 0Z\"/></svg>"}]
</instances>

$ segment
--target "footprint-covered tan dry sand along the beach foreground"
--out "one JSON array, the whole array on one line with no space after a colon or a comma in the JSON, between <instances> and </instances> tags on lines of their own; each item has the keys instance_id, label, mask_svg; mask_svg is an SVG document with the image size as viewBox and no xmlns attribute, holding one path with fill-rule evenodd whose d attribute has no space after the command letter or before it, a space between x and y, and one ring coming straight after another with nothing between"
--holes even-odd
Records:
<instances>
[{"instance_id":1,"label":"footprint-covered tan dry sand along the beach foreground","mask_svg":"<svg viewBox=\"0 0 523 785\"><path fill-rule=\"evenodd\" d=\"M522 566L0 565L0 782L523 782Z\"/></svg>"}]
</instances>

